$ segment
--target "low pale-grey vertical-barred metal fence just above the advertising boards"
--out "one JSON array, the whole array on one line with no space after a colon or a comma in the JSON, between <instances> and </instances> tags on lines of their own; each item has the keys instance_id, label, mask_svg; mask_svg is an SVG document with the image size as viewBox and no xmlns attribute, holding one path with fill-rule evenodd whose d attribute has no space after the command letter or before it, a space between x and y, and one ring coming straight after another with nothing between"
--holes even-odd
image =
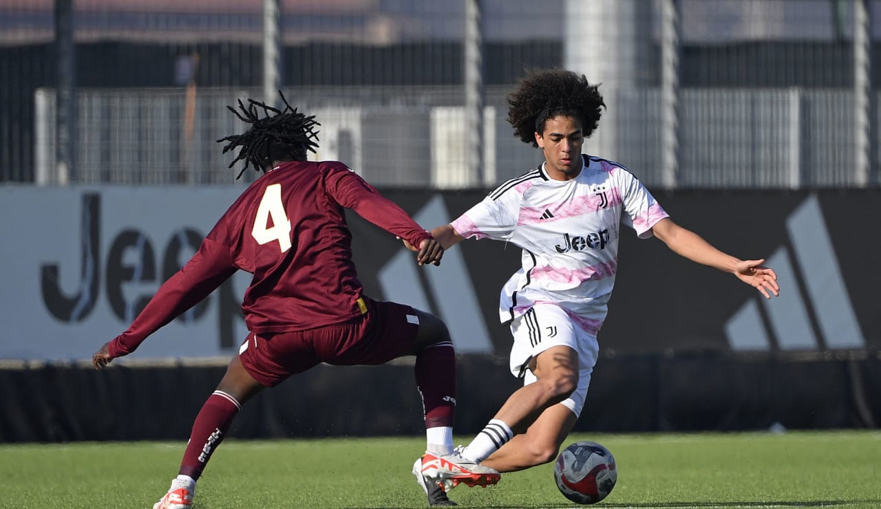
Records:
<instances>
[{"instance_id":1,"label":"low pale-grey vertical-barred metal fence just above the advertising boards","mask_svg":"<svg viewBox=\"0 0 881 509\"><path fill-rule=\"evenodd\" d=\"M292 88L285 95L322 123L315 158L343 160L377 185L491 186L542 160L540 151L512 136L503 89L490 92L485 107L483 182L469 173L463 158L468 132L454 89L405 89L393 94L394 100L374 102L356 101L360 92L352 90L353 97L337 100L319 89ZM241 164L228 168L233 156L222 154L216 140L240 132L242 124L226 105L259 93L202 90L195 99L190 96L188 106L187 93L174 89L82 90L77 181L229 183ZM41 89L36 98L35 181L66 183L59 181L54 158L53 93ZM640 180L663 186L657 164L663 151L659 92L615 91L606 100L609 111L618 113L618 129L603 129L601 121L585 150L595 153L603 146L604 153L618 153L610 159L628 166ZM848 150L854 145L855 122L847 90L691 89L681 102L679 187L859 187L852 171L854 154ZM245 175L250 177L250 172Z\"/></svg>"}]
</instances>

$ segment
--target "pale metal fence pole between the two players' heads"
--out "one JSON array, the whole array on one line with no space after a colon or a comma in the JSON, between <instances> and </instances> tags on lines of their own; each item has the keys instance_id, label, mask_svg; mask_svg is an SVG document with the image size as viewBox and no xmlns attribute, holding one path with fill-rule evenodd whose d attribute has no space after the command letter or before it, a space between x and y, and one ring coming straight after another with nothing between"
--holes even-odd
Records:
<instances>
[{"instance_id":1,"label":"pale metal fence pole between the two players' heads","mask_svg":"<svg viewBox=\"0 0 881 509\"><path fill-rule=\"evenodd\" d=\"M465 0L465 136L466 181L484 182L484 56L480 0Z\"/></svg>"}]
</instances>

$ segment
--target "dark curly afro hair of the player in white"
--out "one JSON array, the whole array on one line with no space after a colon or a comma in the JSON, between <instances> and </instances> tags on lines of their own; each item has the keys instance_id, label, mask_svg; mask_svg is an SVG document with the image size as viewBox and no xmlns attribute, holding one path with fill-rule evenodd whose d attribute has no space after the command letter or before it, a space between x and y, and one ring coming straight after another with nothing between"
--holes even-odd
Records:
<instances>
[{"instance_id":1,"label":"dark curly afro hair of the player in white","mask_svg":"<svg viewBox=\"0 0 881 509\"><path fill-rule=\"evenodd\" d=\"M507 97L507 122L514 127L514 136L535 147L535 133L544 133L544 123L559 115L580 120L584 137L588 137L605 107L598 88L571 70L531 72Z\"/></svg>"}]
</instances>

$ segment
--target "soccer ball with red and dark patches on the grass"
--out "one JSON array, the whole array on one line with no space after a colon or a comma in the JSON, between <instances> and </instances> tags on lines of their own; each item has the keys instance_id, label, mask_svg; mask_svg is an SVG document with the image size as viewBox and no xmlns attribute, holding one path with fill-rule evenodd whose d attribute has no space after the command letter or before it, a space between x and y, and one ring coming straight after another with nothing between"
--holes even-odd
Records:
<instances>
[{"instance_id":1,"label":"soccer ball with red and dark patches on the grass","mask_svg":"<svg viewBox=\"0 0 881 509\"><path fill-rule=\"evenodd\" d=\"M618 481L615 458L596 442L575 442L563 449L553 467L559 492L578 504L596 504Z\"/></svg>"}]
</instances>

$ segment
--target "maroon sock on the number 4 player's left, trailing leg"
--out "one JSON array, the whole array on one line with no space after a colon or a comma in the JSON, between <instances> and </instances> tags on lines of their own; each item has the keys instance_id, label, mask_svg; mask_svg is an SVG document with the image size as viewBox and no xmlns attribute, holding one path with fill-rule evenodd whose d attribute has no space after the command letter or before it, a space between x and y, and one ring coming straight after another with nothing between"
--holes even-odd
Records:
<instances>
[{"instance_id":1,"label":"maroon sock on the number 4 player's left, trailing leg","mask_svg":"<svg viewBox=\"0 0 881 509\"><path fill-rule=\"evenodd\" d=\"M202 475L211 454L226 437L226 431L240 409L241 404L224 392L214 391L214 394L208 396L193 423L193 432L189 435L179 474L193 479Z\"/></svg>"}]
</instances>

